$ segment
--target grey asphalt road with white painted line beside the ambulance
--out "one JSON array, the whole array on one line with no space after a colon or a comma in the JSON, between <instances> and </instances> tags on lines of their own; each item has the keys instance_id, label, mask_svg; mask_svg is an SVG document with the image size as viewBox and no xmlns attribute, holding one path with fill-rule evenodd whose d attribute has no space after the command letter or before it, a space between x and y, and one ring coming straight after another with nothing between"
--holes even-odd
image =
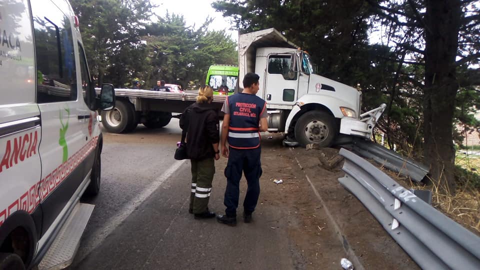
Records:
<instances>
[{"instance_id":1,"label":"grey asphalt road with white painted line beside the ambulance","mask_svg":"<svg viewBox=\"0 0 480 270\"><path fill-rule=\"evenodd\" d=\"M100 194L71 269L291 269L284 213L259 205L236 227L188 213L190 166L174 160L178 120L129 134L104 133ZM223 211L225 160L217 162L210 209ZM240 194L241 196L241 194ZM240 209L241 211L241 206Z\"/></svg>"}]
</instances>

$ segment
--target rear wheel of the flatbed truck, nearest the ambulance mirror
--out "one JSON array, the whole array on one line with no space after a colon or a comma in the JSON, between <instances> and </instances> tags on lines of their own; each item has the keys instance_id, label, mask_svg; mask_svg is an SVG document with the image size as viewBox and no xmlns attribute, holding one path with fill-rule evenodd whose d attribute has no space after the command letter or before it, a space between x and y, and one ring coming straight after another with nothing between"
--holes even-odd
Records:
<instances>
[{"instance_id":1,"label":"rear wheel of the flatbed truck, nearest the ambulance mirror","mask_svg":"<svg viewBox=\"0 0 480 270\"><path fill-rule=\"evenodd\" d=\"M133 119L131 105L125 100L116 100L115 107L112 110L101 112L102 124L110 133L127 132L127 127L131 125Z\"/></svg>"}]
</instances>

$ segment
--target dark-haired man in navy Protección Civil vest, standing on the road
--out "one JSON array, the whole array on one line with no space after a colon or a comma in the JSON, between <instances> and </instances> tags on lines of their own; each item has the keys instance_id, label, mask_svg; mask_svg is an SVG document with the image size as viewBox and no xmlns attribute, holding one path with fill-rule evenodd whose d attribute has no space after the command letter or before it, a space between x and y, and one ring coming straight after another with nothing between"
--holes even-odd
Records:
<instances>
[{"instance_id":1,"label":"dark-haired man in navy Protecci\u00f3n Civil vest, standing on the road","mask_svg":"<svg viewBox=\"0 0 480 270\"><path fill-rule=\"evenodd\" d=\"M267 130L266 102L256 96L259 76L246 73L243 78L243 91L228 96L221 111L223 124L221 131L221 150L228 157L225 168L226 190L223 204L225 214L217 215L220 223L236 225L236 208L238 207L239 184L241 173L245 174L248 184L243 200L243 220L251 222L251 213L255 210L260 193L260 131ZM226 141L228 146L226 147Z\"/></svg>"}]
</instances>

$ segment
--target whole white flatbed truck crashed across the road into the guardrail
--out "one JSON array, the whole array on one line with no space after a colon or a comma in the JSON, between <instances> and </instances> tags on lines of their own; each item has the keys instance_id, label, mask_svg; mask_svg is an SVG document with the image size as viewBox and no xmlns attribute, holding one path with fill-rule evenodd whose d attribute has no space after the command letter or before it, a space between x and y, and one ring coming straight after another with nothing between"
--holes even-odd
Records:
<instances>
[{"instance_id":1,"label":"whole white flatbed truck crashed across the road into the guardrail","mask_svg":"<svg viewBox=\"0 0 480 270\"><path fill-rule=\"evenodd\" d=\"M266 100L268 131L284 132L286 144L330 146L338 134L370 138L385 104L361 113L361 92L313 73L310 56L274 28L240 34L239 91L247 72L260 76L257 95ZM125 132L142 122L166 125L171 112L182 112L196 94L116 89L117 107L102 113L110 132ZM221 104L225 96L215 95Z\"/></svg>"}]
</instances>

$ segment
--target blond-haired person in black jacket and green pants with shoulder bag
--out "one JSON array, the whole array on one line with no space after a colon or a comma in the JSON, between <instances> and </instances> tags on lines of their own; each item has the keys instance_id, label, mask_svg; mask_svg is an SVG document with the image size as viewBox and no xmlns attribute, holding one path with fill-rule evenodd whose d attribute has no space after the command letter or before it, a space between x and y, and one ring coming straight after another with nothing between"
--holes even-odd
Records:
<instances>
[{"instance_id":1,"label":"blond-haired person in black jacket and green pants with shoulder bag","mask_svg":"<svg viewBox=\"0 0 480 270\"><path fill-rule=\"evenodd\" d=\"M208 209L215 160L220 158L218 142L218 113L211 105L213 90L202 86L196 102L188 106L180 117L181 129L186 128L186 152L191 161L191 193L189 213L195 219L212 218Z\"/></svg>"}]
</instances>

